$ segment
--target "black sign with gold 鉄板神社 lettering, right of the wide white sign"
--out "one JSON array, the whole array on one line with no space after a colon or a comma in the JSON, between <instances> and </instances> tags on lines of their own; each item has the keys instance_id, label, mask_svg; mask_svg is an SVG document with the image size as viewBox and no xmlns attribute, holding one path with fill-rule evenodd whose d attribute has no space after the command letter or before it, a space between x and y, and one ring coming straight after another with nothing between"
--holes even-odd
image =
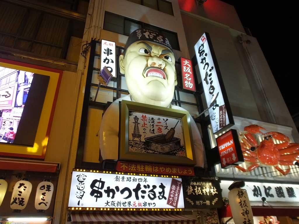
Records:
<instances>
[{"instance_id":1,"label":"black sign with gold \u9244\u677f\u795e\u793e lettering, right of the wide white sign","mask_svg":"<svg viewBox=\"0 0 299 224\"><path fill-rule=\"evenodd\" d=\"M185 208L221 208L223 206L218 180L183 179Z\"/></svg>"}]
</instances>

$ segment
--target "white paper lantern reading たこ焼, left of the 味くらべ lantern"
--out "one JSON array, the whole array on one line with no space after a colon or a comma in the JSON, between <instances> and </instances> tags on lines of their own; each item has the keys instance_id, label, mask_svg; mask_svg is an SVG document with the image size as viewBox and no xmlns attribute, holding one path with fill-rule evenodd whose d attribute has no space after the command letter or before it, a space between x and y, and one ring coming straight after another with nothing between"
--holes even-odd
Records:
<instances>
[{"instance_id":1,"label":"white paper lantern reading \u305f\u3053\u713c, left of the \u5473\u304f\u3089\u3079 lantern","mask_svg":"<svg viewBox=\"0 0 299 224\"><path fill-rule=\"evenodd\" d=\"M10 208L16 210L23 210L29 200L32 190L32 184L27 180L20 180L16 182L13 187L13 194L11 195Z\"/></svg>"}]
</instances>

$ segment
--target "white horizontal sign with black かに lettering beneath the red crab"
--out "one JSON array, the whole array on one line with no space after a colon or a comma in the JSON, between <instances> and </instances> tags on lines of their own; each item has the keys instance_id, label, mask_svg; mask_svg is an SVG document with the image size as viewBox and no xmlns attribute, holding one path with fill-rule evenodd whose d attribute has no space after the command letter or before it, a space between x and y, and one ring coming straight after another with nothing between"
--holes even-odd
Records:
<instances>
[{"instance_id":1,"label":"white horizontal sign with black \u304b\u306b lettering beneath the red crab","mask_svg":"<svg viewBox=\"0 0 299 224\"><path fill-rule=\"evenodd\" d=\"M228 187L233 181L222 180L220 183L222 195L227 197ZM245 182L242 187L247 191L249 200L261 202L265 197L267 202L299 202L299 185L281 183Z\"/></svg>"}]
</instances>

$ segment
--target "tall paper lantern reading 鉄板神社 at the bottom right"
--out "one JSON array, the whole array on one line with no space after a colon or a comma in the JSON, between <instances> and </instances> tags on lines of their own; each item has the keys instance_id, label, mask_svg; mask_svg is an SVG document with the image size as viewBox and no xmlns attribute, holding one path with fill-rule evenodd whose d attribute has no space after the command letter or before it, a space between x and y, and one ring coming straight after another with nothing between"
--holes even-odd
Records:
<instances>
[{"instance_id":1,"label":"tall paper lantern reading \u9244\u677f\u795e\u793e at the bottom right","mask_svg":"<svg viewBox=\"0 0 299 224\"><path fill-rule=\"evenodd\" d=\"M253 224L251 205L245 189L232 189L228 192L228 200L235 224Z\"/></svg>"}]
</instances>

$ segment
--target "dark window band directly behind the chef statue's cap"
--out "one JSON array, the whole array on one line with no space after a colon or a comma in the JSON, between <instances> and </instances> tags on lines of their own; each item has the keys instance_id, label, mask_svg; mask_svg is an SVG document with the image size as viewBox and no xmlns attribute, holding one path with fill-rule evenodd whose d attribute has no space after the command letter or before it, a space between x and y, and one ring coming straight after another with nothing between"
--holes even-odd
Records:
<instances>
[{"instance_id":1,"label":"dark window band directly behind the chef statue's cap","mask_svg":"<svg viewBox=\"0 0 299 224\"><path fill-rule=\"evenodd\" d=\"M177 33L169 30L164 30L159 27L155 27L137 20L129 19L114 13L110 13L107 11L105 12L104 26L103 26L104 30L129 36L130 33L132 33L134 30L137 30L139 28L151 29L163 33L169 40L172 48L175 50L180 50Z\"/></svg>"}]
</instances>

